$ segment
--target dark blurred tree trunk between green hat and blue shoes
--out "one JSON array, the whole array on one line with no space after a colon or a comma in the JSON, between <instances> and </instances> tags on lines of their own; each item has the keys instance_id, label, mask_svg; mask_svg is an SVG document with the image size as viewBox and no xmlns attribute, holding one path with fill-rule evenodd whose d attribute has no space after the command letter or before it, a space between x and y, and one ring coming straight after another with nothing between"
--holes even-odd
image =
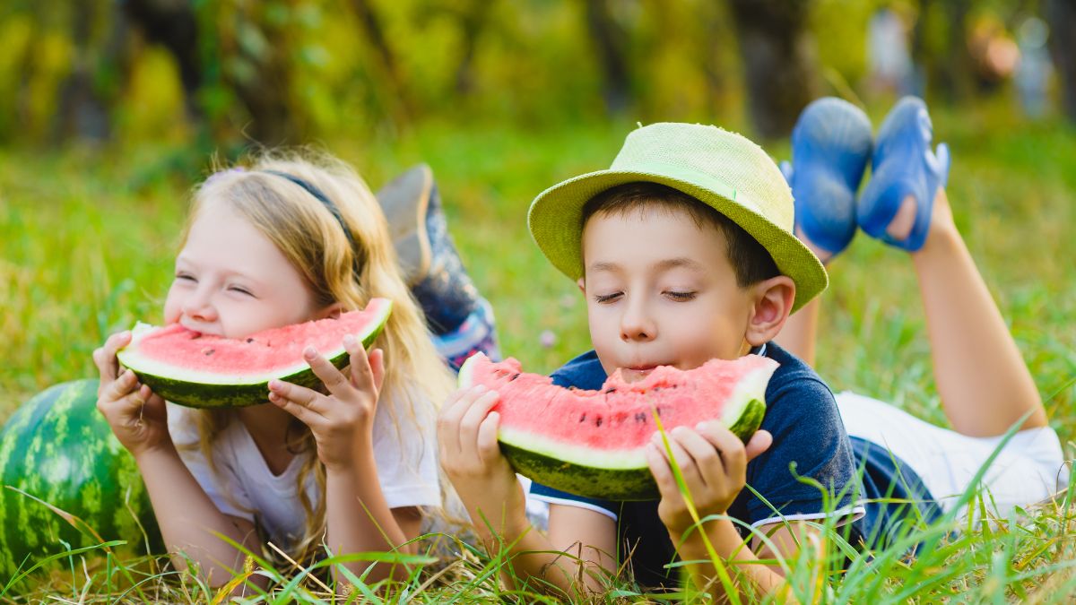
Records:
<instances>
[{"instance_id":1,"label":"dark blurred tree trunk between green hat and blue shoes","mask_svg":"<svg viewBox=\"0 0 1076 605\"><path fill-rule=\"evenodd\" d=\"M748 113L763 138L787 137L817 95L809 2L730 0L747 83Z\"/></svg>"}]
</instances>

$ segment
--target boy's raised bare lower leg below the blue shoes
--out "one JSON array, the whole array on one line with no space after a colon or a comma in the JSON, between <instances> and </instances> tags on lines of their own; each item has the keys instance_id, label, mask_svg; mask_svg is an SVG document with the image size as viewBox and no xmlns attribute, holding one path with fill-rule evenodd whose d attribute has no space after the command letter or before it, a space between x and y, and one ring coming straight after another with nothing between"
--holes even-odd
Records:
<instances>
[{"instance_id":1,"label":"boy's raised bare lower leg below the blue shoes","mask_svg":"<svg viewBox=\"0 0 1076 605\"><path fill-rule=\"evenodd\" d=\"M911 228L902 214L915 214L914 199L904 201L890 226L896 239ZM934 200L926 241L911 259L926 315L934 380L953 428L974 437L1001 435L1029 412L1021 428L1046 426L1035 382L957 230L944 189Z\"/></svg>"}]
</instances>

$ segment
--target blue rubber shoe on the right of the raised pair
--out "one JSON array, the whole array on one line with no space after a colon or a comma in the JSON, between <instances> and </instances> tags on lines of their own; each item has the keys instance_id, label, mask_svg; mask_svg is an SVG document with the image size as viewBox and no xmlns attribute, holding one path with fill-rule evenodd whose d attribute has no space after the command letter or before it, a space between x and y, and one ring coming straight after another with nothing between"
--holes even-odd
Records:
<instances>
[{"instance_id":1,"label":"blue rubber shoe on the right of the raised pair","mask_svg":"<svg viewBox=\"0 0 1076 605\"><path fill-rule=\"evenodd\" d=\"M931 212L938 187L949 177L949 147L931 151L933 127L926 103L918 97L897 101L878 130L870 181L860 196L858 221L873 238L915 252L923 247L931 227ZM886 233L901 202L916 198L916 222L905 239Z\"/></svg>"}]
</instances>

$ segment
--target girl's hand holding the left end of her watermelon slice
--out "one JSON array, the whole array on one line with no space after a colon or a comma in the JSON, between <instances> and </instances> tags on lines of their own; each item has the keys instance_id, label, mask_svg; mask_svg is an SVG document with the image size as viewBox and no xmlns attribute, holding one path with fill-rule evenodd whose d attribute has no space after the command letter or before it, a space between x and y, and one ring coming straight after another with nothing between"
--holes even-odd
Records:
<instances>
[{"instance_id":1,"label":"girl's hand holding the left end of her watermelon slice","mask_svg":"<svg viewBox=\"0 0 1076 605\"><path fill-rule=\"evenodd\" d=\"M101 375L101 383L97 388L97 409L119 442L138 458L145 451L171 445L172 438L168 434L165 399L145 384L139 384L131 370L119 371L116 351L130 340L130 332L113 334L104 346L94 351L94 363Z\"/></svg>"}]
</instances>

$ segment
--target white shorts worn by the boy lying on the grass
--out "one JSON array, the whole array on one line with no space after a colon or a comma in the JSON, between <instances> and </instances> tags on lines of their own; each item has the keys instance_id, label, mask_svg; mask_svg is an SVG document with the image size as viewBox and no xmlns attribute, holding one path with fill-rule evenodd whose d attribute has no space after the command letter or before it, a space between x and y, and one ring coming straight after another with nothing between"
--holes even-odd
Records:
<instances>
[{"instance_id":1,"label":"white shorts worn by the boy lying on the grass","mask_svg":"<svg viewBox=\"0 0 1076 605\"><path fill-rule=\"evenodd\" d=\"M961 435L855 393L839 393L836 398L848 435L888 448L907 463L946 511L955 506L1003 439ZM1034 504L1067 486L1061 441L1048 426L1015 434L983 478L986 505L995 506L992 512L1003 517L1014 506Z\"/></svg>"}]
</instances>

